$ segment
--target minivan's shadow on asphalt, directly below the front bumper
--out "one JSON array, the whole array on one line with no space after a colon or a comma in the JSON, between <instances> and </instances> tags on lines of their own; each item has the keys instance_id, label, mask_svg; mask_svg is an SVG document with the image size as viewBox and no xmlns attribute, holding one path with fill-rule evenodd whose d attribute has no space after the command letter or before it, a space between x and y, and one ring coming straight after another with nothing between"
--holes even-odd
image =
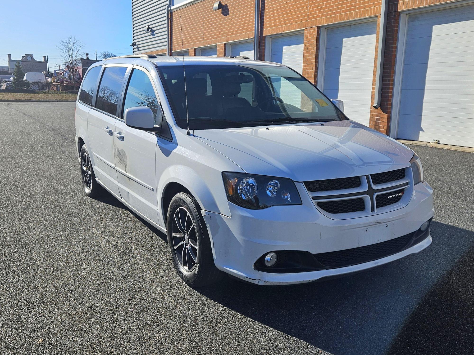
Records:
<instances>
[{"instance_id":1,"label":"minivan's shadow on asphalt, directly below the front bumper","mask_svg":"<svg viewBox=\"0 0 474 355\"><path fill-rule=\"evenodd\" d=\"M197 291L328 352L383 354L392 344L401 346L403 339L397 336L406 331L406 322L410 326L424 323L424 319L413 319L423 314L414 310L423 307L425 295L433 292L443 276L456 272L457 261L474 246L472 231L444 223L432 222L431 234L433 243L419 254L343 278L284 287L257 286L226 278L214 287ZM443 312L445 317L449 314ZM425 336L441 337L445 331L440 323ZM472 328L470 332L466 336L474 337Z\"/></svg>"}]
</instances>

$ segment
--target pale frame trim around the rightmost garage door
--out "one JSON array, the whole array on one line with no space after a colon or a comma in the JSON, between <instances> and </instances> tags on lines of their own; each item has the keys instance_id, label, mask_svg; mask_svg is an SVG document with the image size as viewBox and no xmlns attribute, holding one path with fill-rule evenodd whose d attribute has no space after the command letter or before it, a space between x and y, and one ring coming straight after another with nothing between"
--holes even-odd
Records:
<instances>
[{"instance_id":1,"label":"pale frame trim around the rightmost garage door","mask_svg":"<svg viewBox=\"0 0 474 355\"><path fill-rule=\"evenodd\" d=\"M400 122L401 80L403 77L403 64L405 61L407 30L410 15L458 8L473 4L474 0L450 1L442 4L429 5L422 8L408 9L400 12L397 51L395 55L395 72L393 74L392 109L390 111L390 137L395 139L398 137L398 126Z\"/></svg>"}]
</instances>

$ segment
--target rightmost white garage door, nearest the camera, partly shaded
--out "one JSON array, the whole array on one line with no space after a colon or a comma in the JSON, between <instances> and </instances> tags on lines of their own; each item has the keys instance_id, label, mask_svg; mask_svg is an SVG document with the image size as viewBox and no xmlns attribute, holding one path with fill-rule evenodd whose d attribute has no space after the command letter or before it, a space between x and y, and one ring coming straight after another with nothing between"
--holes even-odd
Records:
<instances>
[{"instance_id":1,"label":"rightmost white garage door, nearest the camera, partly shaded","mask_svg":"<svg viewBox=\"0 0 474 355\"><path fill-rule=\"evenodd\" d=\"M408 17L398 137L474 147L474 6Z\"/></svg>"}]
</instances>

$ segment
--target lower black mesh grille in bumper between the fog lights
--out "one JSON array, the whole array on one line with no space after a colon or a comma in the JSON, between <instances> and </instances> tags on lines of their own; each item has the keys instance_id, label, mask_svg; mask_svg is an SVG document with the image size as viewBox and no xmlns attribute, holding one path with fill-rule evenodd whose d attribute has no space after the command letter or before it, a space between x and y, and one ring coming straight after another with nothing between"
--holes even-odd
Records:
<instances>
[{"instance_id":1,"label":"lower black mesh grille in bumper between the fog lights","mask_svg":"<svg viewBox=\"0 0 474 355\"><path fill-rule=\"evenodd\" d=\"M399 238L371 244L365 247L346 250L331 251L328 253L313 254L315 259L322 265L333 268L365 263L367 261L386 257L408 247L413 238L413 233Z\"/></svg>"}]
</instances>

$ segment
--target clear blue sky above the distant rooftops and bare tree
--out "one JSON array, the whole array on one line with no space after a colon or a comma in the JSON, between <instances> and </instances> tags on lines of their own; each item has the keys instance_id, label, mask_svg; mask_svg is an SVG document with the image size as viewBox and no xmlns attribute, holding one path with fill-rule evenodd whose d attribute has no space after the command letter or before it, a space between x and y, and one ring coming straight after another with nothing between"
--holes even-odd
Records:
<instances>
[{"instance_id":1,"label":"clear blue sky above the distant rooftops and bare tree","mask_svg":"<svg viewBox=\"0 0 474 355\"><path fill-rule=\"evenodd\" d=\"M102 51L131 54L131 0L9 0L2 1L0 65L7 53L21 59L25 53L41 61L48 55L50 70L61 64L58 42L69 35L84 44L95 58Z\"/></svg>"}]
</instances>

